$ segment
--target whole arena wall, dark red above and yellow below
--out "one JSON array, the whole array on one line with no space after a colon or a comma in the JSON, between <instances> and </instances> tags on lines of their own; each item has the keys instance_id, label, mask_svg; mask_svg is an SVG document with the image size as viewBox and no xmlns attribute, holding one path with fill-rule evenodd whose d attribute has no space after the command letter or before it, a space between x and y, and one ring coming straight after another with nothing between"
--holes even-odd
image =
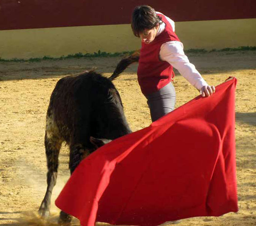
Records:
<instances>
[{"instance_id":1,"label":"whole arena wall, dark red above and yellow below","mask_svg":"<svg viewBox=\"0 0 256 226\"><path fill-rule=\"evenodd\" d=\"M140 48L130 14L147 4L175 21L185 49L256 46L255 0L2 0L0 57L60 57L78 52L123 52ZM96 6L95 6L96 5Z\"/></svg>"}]
</instances>

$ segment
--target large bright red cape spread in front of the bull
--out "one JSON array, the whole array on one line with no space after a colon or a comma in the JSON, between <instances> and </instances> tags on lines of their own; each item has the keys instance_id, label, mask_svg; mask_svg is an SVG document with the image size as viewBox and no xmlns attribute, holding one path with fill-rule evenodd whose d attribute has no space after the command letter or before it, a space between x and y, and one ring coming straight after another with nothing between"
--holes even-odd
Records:
<instances>
[{"instance_id":1,"label":"large bright red cape spread in front of the bull","mask_svg":"<svg viewBox=\"0 0 256 226\"><path fill-rule=\"evenodd\" d=\"M154 226L237 211L236 78L81 161L56 206L79 218Z\"/></svg>"}]
</instances>

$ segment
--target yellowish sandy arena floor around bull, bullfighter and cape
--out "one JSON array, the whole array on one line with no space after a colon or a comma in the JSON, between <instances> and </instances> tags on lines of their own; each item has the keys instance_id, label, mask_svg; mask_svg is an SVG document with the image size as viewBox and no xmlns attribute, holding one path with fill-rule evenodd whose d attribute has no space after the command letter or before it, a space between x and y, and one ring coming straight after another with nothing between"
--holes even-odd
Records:
<instances>
[{"instance_id":1,"label":"yellowish sandy arena floor around bull, bullfighter and cape","mask_svg":"<svg viewBox=\"0 0 256 226\"><path fill-rule=\"evenodd\" d=\"M236 148L239 211L221 217L182 220L182 226L256 225L256 51L189 54L189 59L211 85L229 76L236 89ZM44 150L45 117L56 82L86 69L106 76L120 57L0 62L0 225L56 225L59 210L54 200L68 180L68 149L63 146L57 184L53 190L51 218L42 221L36 213L46 191ZM136 79L137 65L130 66L114 83L133 131L150 125L146 99ZM176 107L199 93L180 75L174 86ZM79 225L74 219L73 225Z\"/></svg>"}]
</instances>

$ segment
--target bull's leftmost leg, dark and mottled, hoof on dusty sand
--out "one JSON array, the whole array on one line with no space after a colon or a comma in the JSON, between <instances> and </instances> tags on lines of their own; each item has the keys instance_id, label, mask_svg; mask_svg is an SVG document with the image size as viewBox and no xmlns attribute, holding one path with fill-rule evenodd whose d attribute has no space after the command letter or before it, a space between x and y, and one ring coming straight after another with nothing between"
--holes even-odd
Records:
<instances>
[{"instance_id":1,"label":"bull's leftmost leg, dark and mottled, hoof on dusty sand","mask_svg":"<svg viewBox=\"0 0 256 226\"><path fill-rule=\"evenodd\" d=\"M43 217L48 217L50 214L51 193L57 180L57 169L59 164L59 150L61 149L62 140L54 135L47 135L45 132L45 154L47 157L47 190L45 197L38 210L39 214Z\"/></svg>"}]
</instances>

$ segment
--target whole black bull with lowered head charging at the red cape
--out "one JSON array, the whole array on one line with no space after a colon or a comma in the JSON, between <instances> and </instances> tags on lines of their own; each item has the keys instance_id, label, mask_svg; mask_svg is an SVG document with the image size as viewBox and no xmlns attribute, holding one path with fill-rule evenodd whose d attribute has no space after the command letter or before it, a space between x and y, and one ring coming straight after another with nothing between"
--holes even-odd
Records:
<instances>
[{"instance_id":1,"label":"whole black bull with lowered head charging at the red cape","mask_svg":"<svg viewBox=\"0 0 256 226\"><path fill-rule=\"evenodd\" d=\"M69 168L72 174L79 162L106 140L131 132L112 80L138 59L135 54L123 58L109 78L89 71L57 82L46 117L47 191L39 208L43 217L50 214L51 193L57 180L59 150L63 141L70 148ZM61 212L60 223L70 220L68 214Z\"/></svg>"}]
</instances>

